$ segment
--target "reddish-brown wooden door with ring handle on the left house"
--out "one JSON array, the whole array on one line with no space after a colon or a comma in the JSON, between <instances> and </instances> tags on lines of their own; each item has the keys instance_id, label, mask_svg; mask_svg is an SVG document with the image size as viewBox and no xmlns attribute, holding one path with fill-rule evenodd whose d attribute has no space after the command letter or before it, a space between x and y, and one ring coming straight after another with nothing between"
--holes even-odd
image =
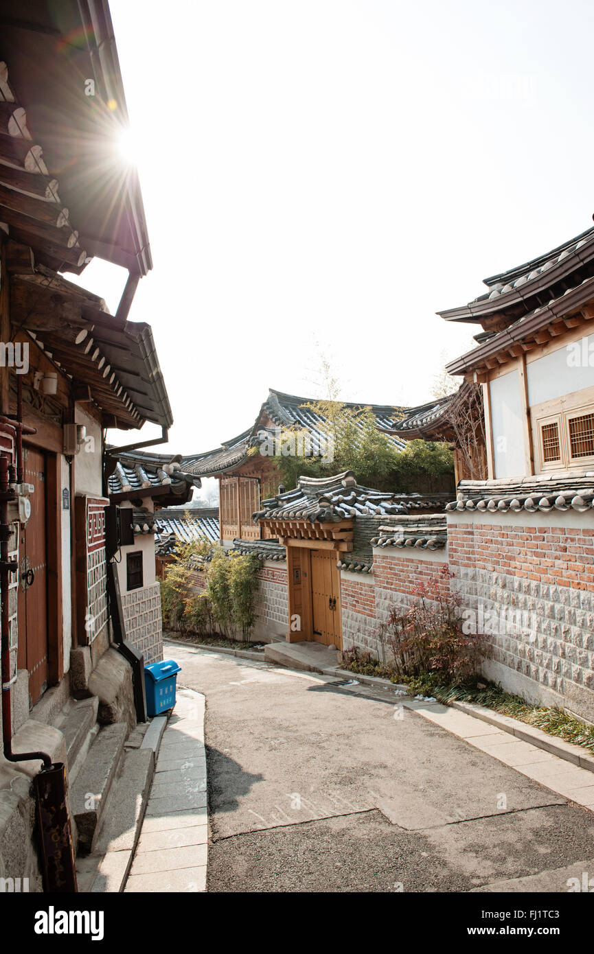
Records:
<instances>
[{"instance_id":1,"label":"reddish-brown wooden door with ring handle on the left house","mask_svg":"<svg viewBox=\"0 0 594 954\"><path fill-rule=\"evenodd\" d=\"M20 531L18 573L19 669L29 672L30 705L48 685L48 556L46 541L46 458L23 449L24 480L32 484L31 517Z\"/></svg>"}]
</instances>

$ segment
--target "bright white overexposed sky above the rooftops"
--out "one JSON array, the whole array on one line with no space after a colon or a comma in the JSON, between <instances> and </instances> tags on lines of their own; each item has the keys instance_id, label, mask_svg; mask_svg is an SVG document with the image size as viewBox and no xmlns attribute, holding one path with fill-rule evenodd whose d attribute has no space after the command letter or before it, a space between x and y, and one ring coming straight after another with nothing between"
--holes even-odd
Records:
<instances>
[{"instance_id":1,"label":"bright white overexposed sky above the rooftops","mask_svg":"<svg viewBox=\"0 0 594 954\"><path fill-rule=\"evenodd\" d=\"M428 400L480 330L436 309L591 224L587 0L110 6L154 259L130 318L173 452L244 430L268 387L313 395L320 350L345 400ZM115 309L124 280L80 282Z\"/></svg>"}]
</instances>

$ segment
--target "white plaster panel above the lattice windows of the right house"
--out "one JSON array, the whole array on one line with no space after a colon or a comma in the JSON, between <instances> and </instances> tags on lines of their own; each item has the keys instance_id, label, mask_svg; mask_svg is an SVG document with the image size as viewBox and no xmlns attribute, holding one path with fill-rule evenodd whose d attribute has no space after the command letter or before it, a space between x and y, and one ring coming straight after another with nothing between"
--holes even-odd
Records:
<instances>
[{"instance_id":1,"label":"white plaster panel above the lattice windows of the right house","mask_svg":"<svg viewBox=\"0 0 594 954\"><path fill-rule=\"evenodd\" d=\"M526 364L526 381L531 407L594 385L594 335Z\"/></svg>"}]
</instances>

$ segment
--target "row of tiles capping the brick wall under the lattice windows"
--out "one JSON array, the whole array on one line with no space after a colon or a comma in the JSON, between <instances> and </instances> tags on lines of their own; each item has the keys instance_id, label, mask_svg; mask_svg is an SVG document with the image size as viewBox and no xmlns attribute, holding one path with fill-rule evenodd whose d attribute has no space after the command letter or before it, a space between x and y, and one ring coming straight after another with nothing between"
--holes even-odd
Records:
<instances>
[{"instance_id":1,"label":"row of tiles capping the brick wall under the lattice windows","mask_svg":"<svg viewBox=\"0 0 594 954\"><path fill-rule=\"evenodd\" d=\"M594 472L540 474L514 480L460 481L456 500L447 510L479 513L549 513L594 508Z\"/></svg>"}]
</instances>

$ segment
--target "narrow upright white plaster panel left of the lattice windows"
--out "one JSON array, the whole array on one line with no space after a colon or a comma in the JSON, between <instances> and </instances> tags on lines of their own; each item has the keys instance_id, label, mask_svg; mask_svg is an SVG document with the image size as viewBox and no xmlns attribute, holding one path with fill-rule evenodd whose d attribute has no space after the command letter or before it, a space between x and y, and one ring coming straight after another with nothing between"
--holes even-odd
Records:
<instances>
[{"instance_id":1,"label":"narrow upright white plaster panel left of the lattice windows","mask_svg":"<svg viewBox=\"0 0 594 954\"><path fill-rule=\"evenodd\" d=\"M495 476L523 477L526 469L518 371L496 378L489 387Z\"/></svg>"}]
</instances>

